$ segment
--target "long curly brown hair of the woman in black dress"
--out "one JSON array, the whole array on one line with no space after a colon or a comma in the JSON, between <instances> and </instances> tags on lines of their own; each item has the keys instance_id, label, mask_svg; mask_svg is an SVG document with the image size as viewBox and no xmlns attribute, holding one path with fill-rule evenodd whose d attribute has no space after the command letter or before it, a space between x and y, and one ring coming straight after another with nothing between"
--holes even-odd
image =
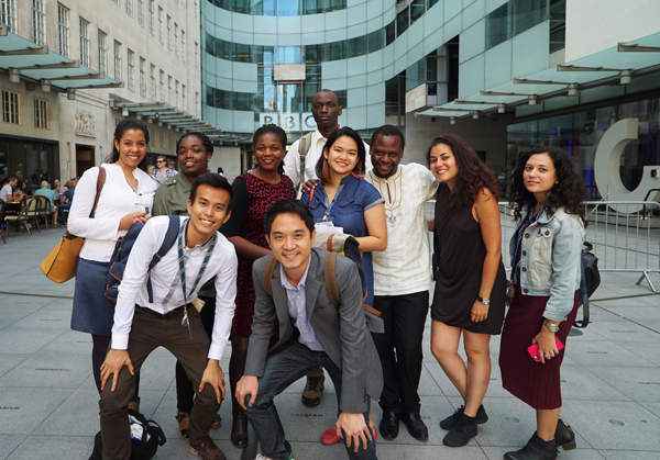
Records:
<instances>
[{"instance_id":1,"label":"long curly brown hair of the woman in black dress","mask_svg":"<svg viewBox=\"0 0 660 460\"><path fill-rule=\"evenodd\" d=\"M429 167L431 166L431 150L439 144L444 144L451 148L459 170L454 190L452 190L449 197L450 206L472 206L476 201L479 192L483 189L488 189L495 200L499 198L499 182L493 171L476 155L476 152L457 135L443 134L433 139L427 150L427 164Z\"/></svg>"}]
</instances>

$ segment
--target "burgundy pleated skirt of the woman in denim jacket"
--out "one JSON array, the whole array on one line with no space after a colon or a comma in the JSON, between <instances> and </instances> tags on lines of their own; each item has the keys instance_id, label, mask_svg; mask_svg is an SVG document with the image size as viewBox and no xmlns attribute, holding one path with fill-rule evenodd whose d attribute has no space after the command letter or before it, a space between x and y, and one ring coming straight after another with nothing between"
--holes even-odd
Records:
<instances>
[{"instance_id":1,"label":"burgundy pleated skirt of the woman in denim jacket","mask_svg":"<svg viewBox=\"0 0 660 460\"><path fill-rule=\"evenodd\" d=\"M544 364L536 362L527 352L531 339L543 326L543 312L548 296L530 296L520 293L516 285L516 295L512 301L499 345L499 369L502 384L514 396L535 409L561 407L560 367L565 348ZM559 325L557 336L566 345L566 337L578 315L578 292L573 310Z\"/></svg>"}]
</instances>

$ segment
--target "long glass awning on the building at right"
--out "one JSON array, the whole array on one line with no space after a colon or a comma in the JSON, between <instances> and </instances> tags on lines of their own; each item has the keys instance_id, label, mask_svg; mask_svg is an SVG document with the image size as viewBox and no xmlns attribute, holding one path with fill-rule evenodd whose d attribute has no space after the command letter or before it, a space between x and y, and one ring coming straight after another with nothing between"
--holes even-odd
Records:
<instances>
[{"instance_id":1,"label":"long glass awning on the building at right","mask_svg":"<svg viewBox=\"0 0 660 460\"><path fill-rule=\"evenodd\" d=\"M506 83L482 89L479 93L457 99L415 115L479 117L504 113L519 105L536 105L557 97L576 97L580 91L629 85L634 79L660 74L660 33L619 43L557 67L516 77ZM660 88L660 80L658 80ZM453 122L453 120L452 120Z\"/></svg>"}]
</instances>

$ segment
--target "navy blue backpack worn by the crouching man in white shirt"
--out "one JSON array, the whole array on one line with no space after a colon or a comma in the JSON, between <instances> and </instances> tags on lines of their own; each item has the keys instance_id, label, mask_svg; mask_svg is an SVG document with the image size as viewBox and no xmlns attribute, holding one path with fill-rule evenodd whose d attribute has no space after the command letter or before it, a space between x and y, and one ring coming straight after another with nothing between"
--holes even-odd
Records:
<instances>
[{"instance_id":1,"label":"navy blue backpack worn by the crouching man in white shirt","mask_svg":"<svg viewBox=\"0 0 660 460\"><path fill-rule=\"evenodd\" d=\"M178 215L168 215L169 225L167 226L167 233L165 234L165 239L163 239L163 245L158 251L154 255L152 259L148 271L151 271L156 263L161 261L163 257L167 254L167 251L174 246L176 242L176 237L179 231L180 220ZM114 250L112 251L112 257L110 257L110 268L108 269L108 282L106 284L106 296L110 299L112 302L117 303L117 296L119 295L119 285L121 284L121 280L123 279L123 272L127 268L127 262L129 261L129 256L131 255L131 249L135 244L135 239L138 239L138 235L144 228L144 224L135 223L131 225L129 232L119 237L117 244L114 245ZM148 302L154 302L154 291L151 283L151 276L146 280L146 292L148 292Z\"/></svg>"}]
</instances>

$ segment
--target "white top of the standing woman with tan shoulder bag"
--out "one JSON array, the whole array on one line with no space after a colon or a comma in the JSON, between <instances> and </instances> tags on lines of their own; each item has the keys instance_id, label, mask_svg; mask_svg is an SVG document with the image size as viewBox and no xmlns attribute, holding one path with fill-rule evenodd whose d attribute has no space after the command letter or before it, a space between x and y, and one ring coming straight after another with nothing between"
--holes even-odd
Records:
<instances>
[{"instance_id":1,"label":"white top of the standing woman with tan shoulder bag","mask_svg":"<svg viewBox=\"0 0 660 460\"><path fill-rule=\"evenodd\" d=\"M76 186L76 199L69 210L68 231L85 238L81 258L107 262L112 256L117 238L128 232L119 229L121 218L133 212L145 211L146 207L151 214L158 182L135 168L133 177L138 180L138 192L133 192L121 166L103 164L102 167L106 168L106 183L94 218L89 218L89 213L96 198L98 167L85 171Z\"/></svg>"}]
</instances>

